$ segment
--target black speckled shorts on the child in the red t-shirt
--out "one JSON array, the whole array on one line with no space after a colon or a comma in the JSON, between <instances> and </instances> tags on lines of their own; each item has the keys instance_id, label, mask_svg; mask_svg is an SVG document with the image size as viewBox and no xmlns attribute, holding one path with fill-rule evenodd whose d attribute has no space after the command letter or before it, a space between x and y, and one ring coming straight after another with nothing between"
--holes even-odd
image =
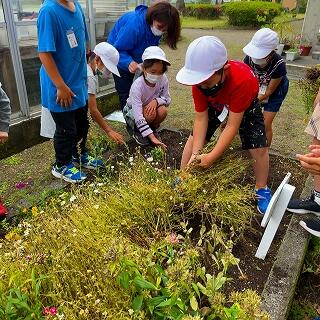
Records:
<instances>
[{"instance_id":1,"label":"black speckled shorts on the child in the red t-shirt","mask_svg":"<svg viewBox=\"0 0 320 320\"><path fill-rule=\"evenodd\" d=\"M208 108L206 141L210 141L215 131L221 125L222 122L218 119L221 112L222 111L214 108ZM239 135L243 150L264 148L268 146L263 113L258 100L255 100L250 108L244 112L239 128Z\"/></svg>"}]
</instances>

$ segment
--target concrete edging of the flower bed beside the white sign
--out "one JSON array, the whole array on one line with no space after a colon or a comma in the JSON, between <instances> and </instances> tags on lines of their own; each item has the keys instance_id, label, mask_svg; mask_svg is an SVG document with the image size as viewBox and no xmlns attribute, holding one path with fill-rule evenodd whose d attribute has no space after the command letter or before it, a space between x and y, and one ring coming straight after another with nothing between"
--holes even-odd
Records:
<instances>
[{"instance_id":1,"label":"concrete edging of the flower bed beside the white sign","mask_svg":"<svg viewBox=\"0 0 320 320\"><path fill-rule=\"evenodd\" d=\"M312 177L309 176L301 198L308 196L312 189ZM285 320L290 311L309 243L309 234L299 225L300 220L301 216L292 216L262 292L262 308L271 320Z\"/></svg>"}]
</instances>

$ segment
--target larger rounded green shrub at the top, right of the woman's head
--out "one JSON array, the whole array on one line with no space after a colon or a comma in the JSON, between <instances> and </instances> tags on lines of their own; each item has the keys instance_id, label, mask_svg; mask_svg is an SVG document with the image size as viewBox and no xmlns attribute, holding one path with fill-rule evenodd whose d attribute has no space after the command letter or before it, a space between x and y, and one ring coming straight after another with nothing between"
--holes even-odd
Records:
<instances>
[{"instance_id":1,"label":"larger rounded green shrub at the top, right of the woman's head","mask_svg":"<svg viewBox=\"0 0 320 320\"><path fill-rule=\"evenodd\" d=\"M281 5L264 1L230 2L223 5L229 24L242 27L259 27L271 23L281 10Z\"/></svg>"}]
</instances>

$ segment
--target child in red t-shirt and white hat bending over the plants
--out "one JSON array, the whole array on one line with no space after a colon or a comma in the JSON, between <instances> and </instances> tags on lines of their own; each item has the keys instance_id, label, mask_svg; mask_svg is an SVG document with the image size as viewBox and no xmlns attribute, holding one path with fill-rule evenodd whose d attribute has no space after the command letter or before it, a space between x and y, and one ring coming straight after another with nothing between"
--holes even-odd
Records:
<instances>
[{"instance_id":1,"label":"child in red t-shirt and white hat bending over the plants","mask_svg":"<svg viewBox=\"0 0 320 320\"><path fill-rule=\"evenodd\" d=\"M218 160L239 132L242 148L254 161L258 210L265 213L271 200L267 186L269 153L263 114L257 99L259 85L243 62L228 61L224 44L216 37L204 36L188 47L185 66L177 81L192 86L195 105L193 132L182 154L181 168L195 160L204 168ZM215 147L199 154L216 129L226 120Z\"/></svg>"}]
</instances>

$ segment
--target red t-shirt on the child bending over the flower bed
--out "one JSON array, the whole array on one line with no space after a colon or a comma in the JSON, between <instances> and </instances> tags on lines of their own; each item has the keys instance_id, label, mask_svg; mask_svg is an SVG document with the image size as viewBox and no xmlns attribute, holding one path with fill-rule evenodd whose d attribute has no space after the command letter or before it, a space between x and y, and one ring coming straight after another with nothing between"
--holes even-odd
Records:
<instances>
[{"instance_id":1,"label":"red t-shirt on the child bending over the flower bed","mask_svg":"<svg viewBox=\"0 0 320 320\"><path fill-rule=\"evenodd\" d=\"M215 97L205 96L197 86L192 86L195 110L203 112L208 108L222 110L227 107L232 112L247 110L259 91L258 80L251 68L239 61L229 61L227 77L223 88Z\"/></svg>"}]
</instances>

